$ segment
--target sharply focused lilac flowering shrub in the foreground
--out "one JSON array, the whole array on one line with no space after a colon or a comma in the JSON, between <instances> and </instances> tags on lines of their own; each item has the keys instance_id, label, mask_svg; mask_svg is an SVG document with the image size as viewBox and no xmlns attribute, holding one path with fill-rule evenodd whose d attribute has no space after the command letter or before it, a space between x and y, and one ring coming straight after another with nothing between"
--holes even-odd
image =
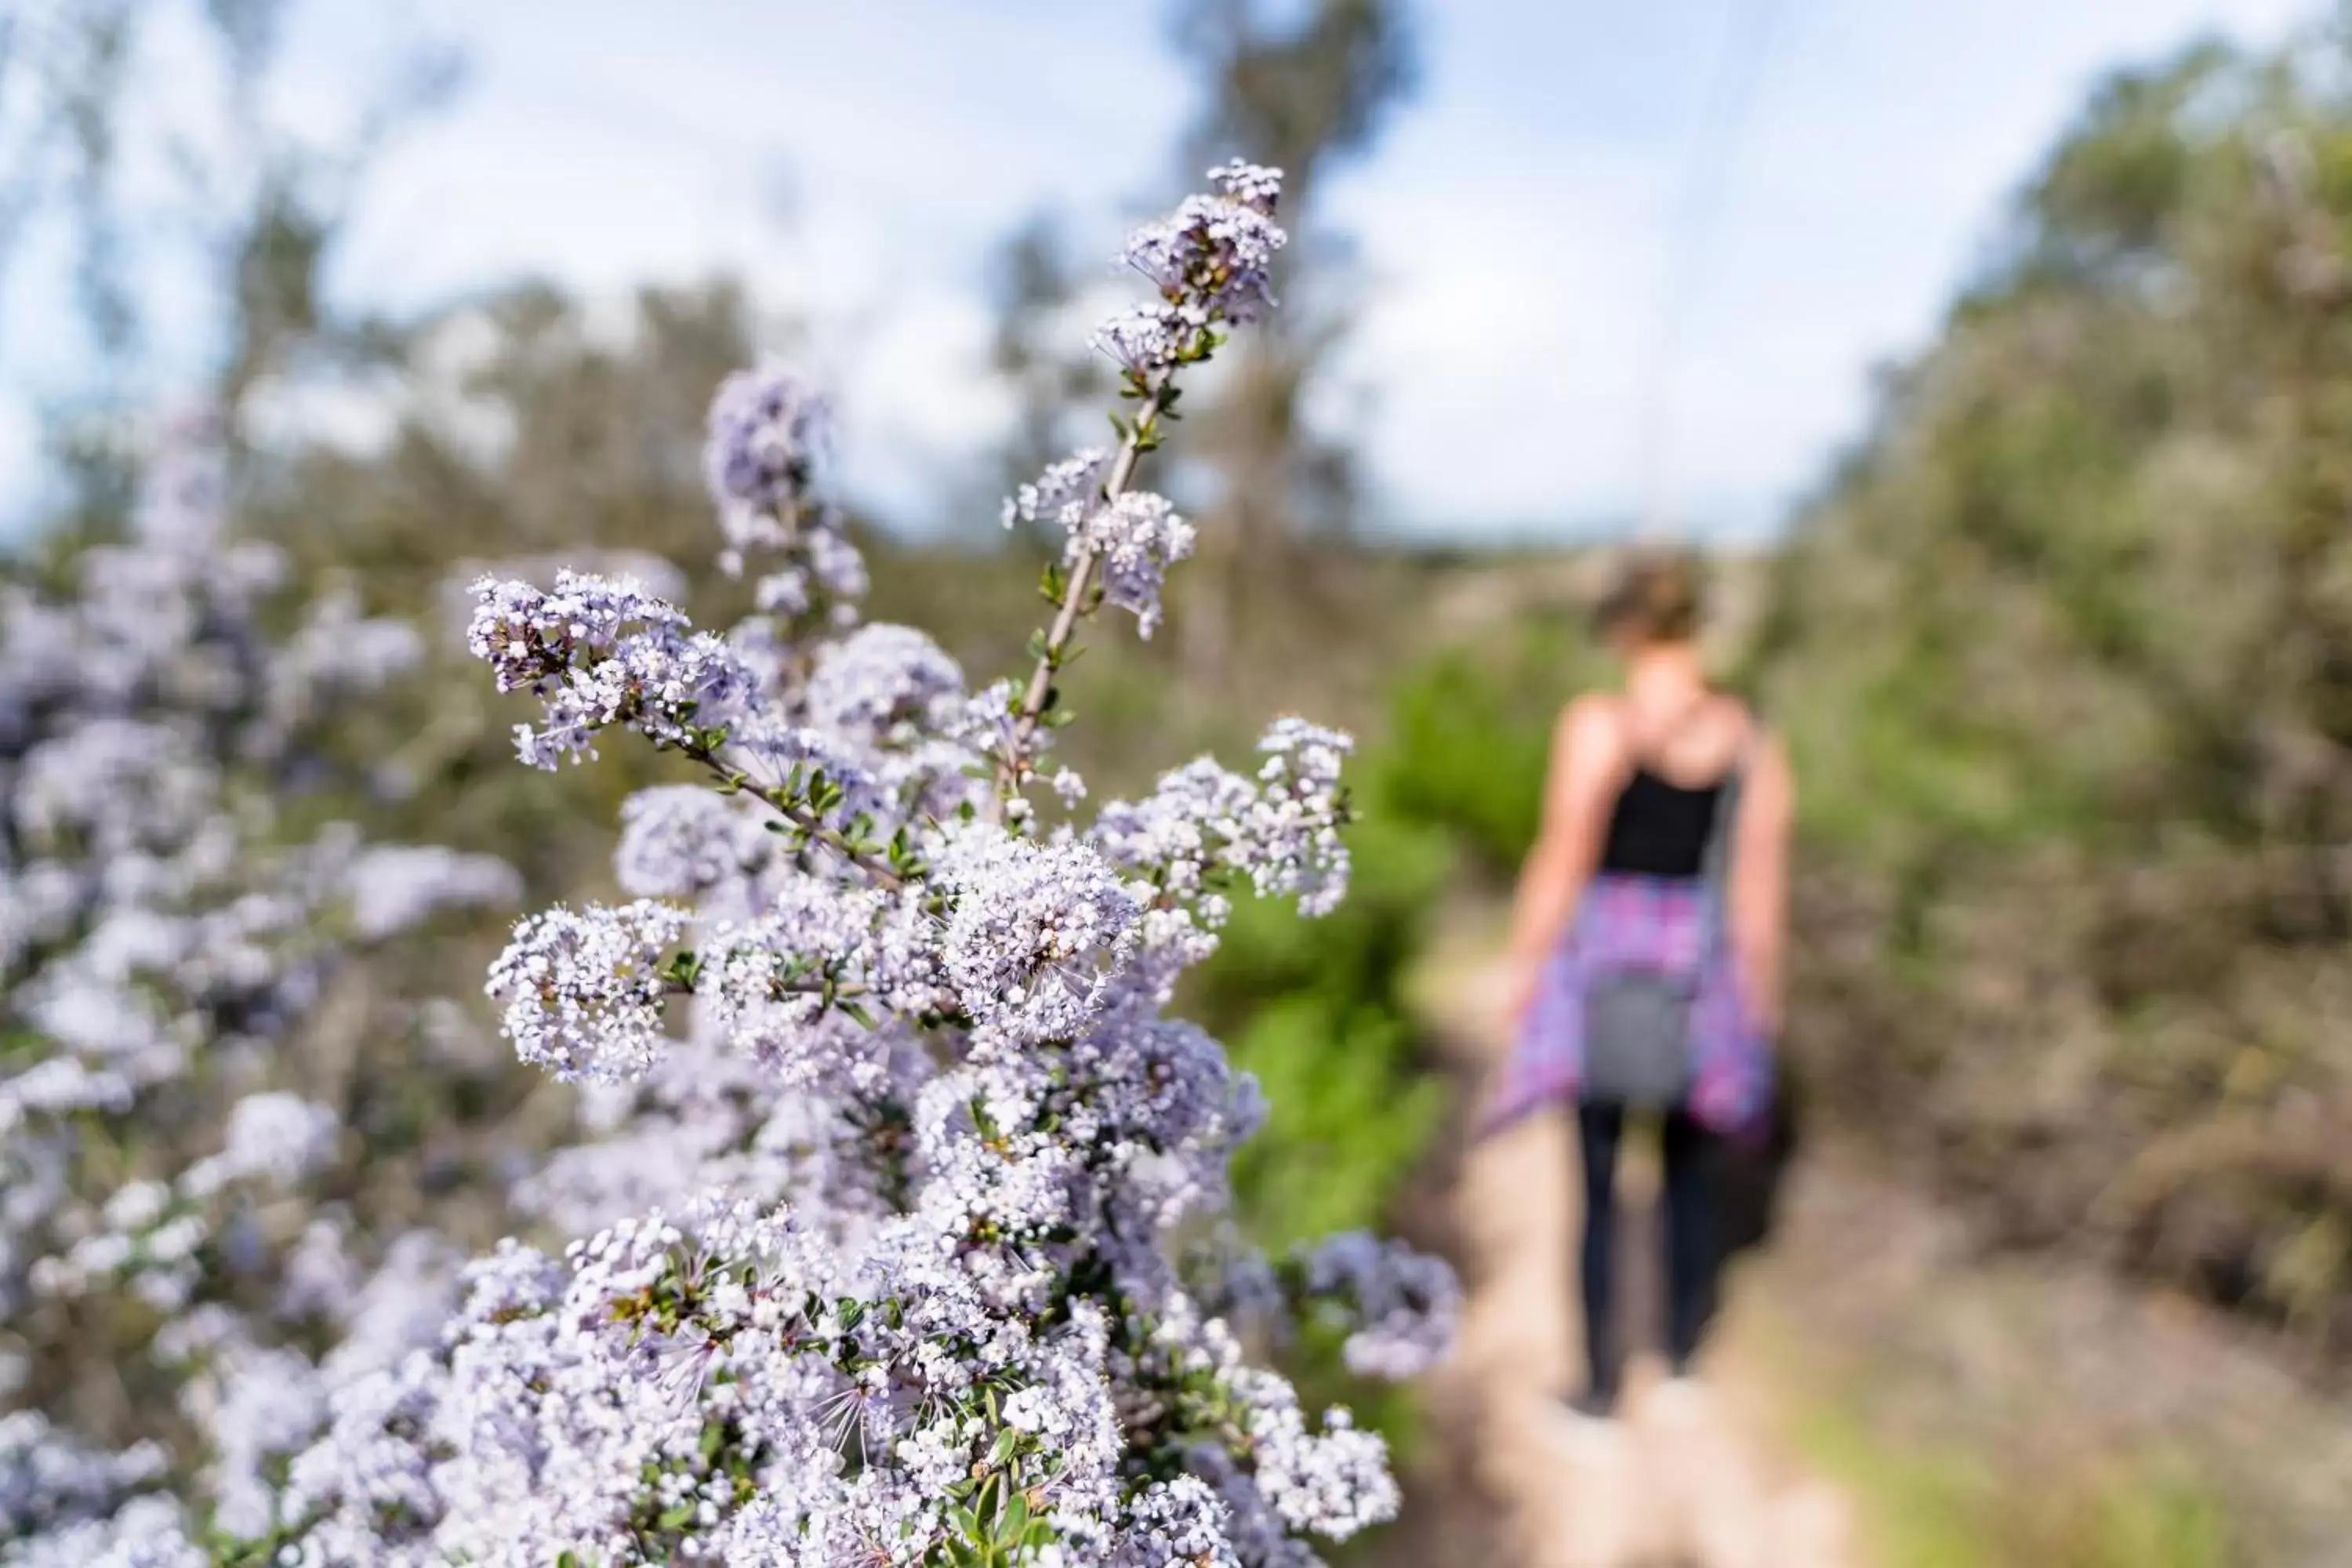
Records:
<instances>
[{"instance_id":1,"label":"sharply focused lilac flowering shrub in the foreground","mask_svg":"<svg viewBox=\"0 0 2352 1568\"><path fill-rule=\"evenodd\" d=\"M1277 176L1141 230L1157 303L1101 346L1120 447L1014 498L1068 550L1021 679L969 689L863 625L818 496L823 404L717 397L706 473L757 604L701 632L630 581L485 578L470 646L541 715L532 766L633 736L701 785L637 795L633 903L524 919L489 990L600 1128L522 1199L593 1232L506 1244L430 1349L350 1382L294 1458L287 1563L1312 1563L1397 1502L1343 1410L1298 1408L1235 1324L1305 1298L1409 1375L1442 1267L1343 1239L1268 1267L1221 1213L1256 1088L1169 1018L1228 889L1329 907L1348 738L1287 719L1256 776L1195 762L1047 827L1058 677L1103 602L1150 628L1190 545L1138 463L1178 371L1272 301Z\"/></svg>"}]
</instances>

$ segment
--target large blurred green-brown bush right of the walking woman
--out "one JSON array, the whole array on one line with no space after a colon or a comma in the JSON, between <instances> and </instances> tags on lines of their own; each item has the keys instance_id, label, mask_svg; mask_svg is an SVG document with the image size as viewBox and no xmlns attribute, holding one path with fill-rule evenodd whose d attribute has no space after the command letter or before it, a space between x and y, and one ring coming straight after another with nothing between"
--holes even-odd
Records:
<instances>
[{"instance_id":1,"label":"large blurred green-brown bush right of the walking woman","mask_svg":"<svg viewBox=\"0 0 2352 1568\"><path fill-rule=\"evenodd\" d=\"M2352 1335L2343 42L2098 89L1778 564L1797 1046L2002 1234Z\"/></svg>"}]
</instances>

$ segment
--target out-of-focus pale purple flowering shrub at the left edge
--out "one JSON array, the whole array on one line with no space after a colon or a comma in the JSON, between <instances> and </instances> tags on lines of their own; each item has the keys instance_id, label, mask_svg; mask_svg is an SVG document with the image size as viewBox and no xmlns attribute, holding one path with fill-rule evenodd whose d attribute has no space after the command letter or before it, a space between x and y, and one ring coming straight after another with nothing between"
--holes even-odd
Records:
<instances>
[{"instance_id":1,"label":"out-of-focus pale purple flowering shrub at the left edge","mask_svg":"<svg viewBox=\"0 0 2352 1568\"><path fill-rule=\"evenodd\" d=\"M176 1392L212 1432L214 1519L259 1530L266 1465L322 1415L294 1345L329 1333L341 1366L365 1359L433 1251L395 1246L367 1281L339 1215L287 1201L343 1128L280 1086L282 1046L358 945L520 889L480 856L278 830L320 719L416 637L348 597L266 635L282 562L223 536L209 421L169 428L129 541L73 569L71 597L0 602L0 1392L99 1371L127 1401ZM118 1349L146 1366L106 1366ZM0 1415L0 1554L87 1561L169 1526L167 1500L99 1521L191 1462Z\"/></svg>"}]
</instances>

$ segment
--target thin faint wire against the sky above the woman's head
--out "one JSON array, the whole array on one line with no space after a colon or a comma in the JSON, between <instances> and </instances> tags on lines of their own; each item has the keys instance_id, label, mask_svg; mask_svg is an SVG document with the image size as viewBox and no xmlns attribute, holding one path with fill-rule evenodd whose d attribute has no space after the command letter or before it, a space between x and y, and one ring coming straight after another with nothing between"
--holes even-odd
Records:
<instances>
[{"instance_id":1,"label":"thin faint wire against the sky above the woman's head","mask_svg":"<svg viewBox=\"0 0 2352 1568\"><path fill-rule=\"evenodd\" d=\"M1642 367L1642 517L1639 536L1661 538L1670 531L1675 470L1675 369L1682 350L1691 296L1708 263L1708 244L1731 188L1740 129L1764 78L1766 54L1785 5L1783 0L1731 0L1726 42L1698 120L1698 143L1689 183L1668 230L1665 282L1651 329L1649 357Z\"/></svg>"}]
</instances>

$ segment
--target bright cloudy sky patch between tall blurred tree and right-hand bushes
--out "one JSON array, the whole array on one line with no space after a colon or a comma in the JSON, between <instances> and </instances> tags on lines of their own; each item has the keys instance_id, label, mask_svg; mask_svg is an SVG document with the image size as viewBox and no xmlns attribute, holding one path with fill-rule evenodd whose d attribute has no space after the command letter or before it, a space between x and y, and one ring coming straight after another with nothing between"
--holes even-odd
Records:
<instances>
[{"instance_id":1,"label":"bright cloudy sky patch between tall blurred tree and right-hand bushes","mask_svg":"<svg viewBox=\"0 0 2352 1568\"><path fill-rule=\"evenodd\" d=\"M1644 505L1757 534L1933 324L2098 73L2199 31L2281 35L2305 0L1780 0L1708 242L1649 388L1693 129L1733 7L1449 5L1428 103L1343 186L1395 280L1357 371L1404 527L1576 529Z\"/></svg>"}]
</instances>

